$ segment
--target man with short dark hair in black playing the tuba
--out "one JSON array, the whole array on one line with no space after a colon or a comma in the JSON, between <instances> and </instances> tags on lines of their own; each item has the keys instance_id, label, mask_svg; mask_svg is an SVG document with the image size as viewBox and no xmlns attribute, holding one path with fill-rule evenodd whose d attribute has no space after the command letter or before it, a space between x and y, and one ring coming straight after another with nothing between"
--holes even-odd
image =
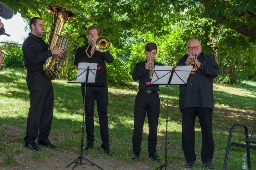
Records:
<instances>
[{"instance_id":1,"label":"man with short dark hair in black playing the tuba","mask_svg":"<svg viewBox=\"0 0 256 170\"><path fill-rule=\"evenodd\" d=\"M58 47L47 50L43 41L44 22L42 18L30 20L31 33L22 45L25 67L27 68L27 85L30 91L30 108L27 119L27 132L24 138L25 147L40 151L37 143L50 148L57 148L50 143L49 133L53 119L53 86L43 72L44 61L52 55L63 57L64 51ZM39 130L39 135L38 135ZM38 136L37 136L38 135Z\"/></svg>"}]
</instances>

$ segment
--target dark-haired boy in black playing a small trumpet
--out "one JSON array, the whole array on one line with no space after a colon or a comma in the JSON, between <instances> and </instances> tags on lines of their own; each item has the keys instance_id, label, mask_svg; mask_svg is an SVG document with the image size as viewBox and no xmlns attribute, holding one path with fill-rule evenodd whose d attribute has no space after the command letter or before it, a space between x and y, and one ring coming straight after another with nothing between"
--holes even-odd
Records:
<instances>
[{"instance_id":1,"label":"dark-haired boy in black playing a small trumpet","mask_svg":"<svg viewBox=\"0 0 256 170\"><path fill-rule=\"evenodd\" d=\"M157 47L155 43L148 43L145 47L145 61L138 62L132 73L134 81L139 80L139 91L134 104L134 124L133 124L133 156L132 160L140 160L142 130L146 114L148 116L149 135L148 135L148 152L149 158L153 161L160 161L156 154L157 144L157 126L160 113L160 99L158 95L159 85L146 85L151 81L150 68L155 65L163 65L155 62Z\"/></svg>"}]
</instances>

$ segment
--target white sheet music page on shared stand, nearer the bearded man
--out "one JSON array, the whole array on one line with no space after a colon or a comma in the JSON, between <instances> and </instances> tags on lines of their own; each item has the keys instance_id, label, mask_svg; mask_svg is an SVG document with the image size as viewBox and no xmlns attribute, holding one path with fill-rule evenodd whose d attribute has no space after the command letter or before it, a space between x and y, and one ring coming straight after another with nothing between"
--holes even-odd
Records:
<instances>
[{"instance_id":1,"label":"white sheet music page on shared stand, nearer the bearded man","mask_svg":"<svg viewBox=\"0 0 256 170\"><path fill-rule=\"evenodd\" d=\"M191 72L192 68L193 66L177 66L175 72L173 73L170 84L187 84L189 73Z\"/></svg>"}]
</instances>

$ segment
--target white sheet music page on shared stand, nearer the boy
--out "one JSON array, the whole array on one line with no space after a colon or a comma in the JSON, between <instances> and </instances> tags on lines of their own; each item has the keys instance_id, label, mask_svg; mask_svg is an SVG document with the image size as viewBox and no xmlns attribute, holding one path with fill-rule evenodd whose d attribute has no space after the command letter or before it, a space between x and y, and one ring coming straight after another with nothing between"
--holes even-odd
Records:
<instances>
[{"instance_id":1,"label":"white sheet music page on shared stand, nearer the boy","mask_svg":"<svg viewBox=\"0 0 256 170\"><path fill-rule=\"evenodd\" d=\"M151 82L153 84L168 84L173 66L155 66Z\"/></svg>"}]
</instances>

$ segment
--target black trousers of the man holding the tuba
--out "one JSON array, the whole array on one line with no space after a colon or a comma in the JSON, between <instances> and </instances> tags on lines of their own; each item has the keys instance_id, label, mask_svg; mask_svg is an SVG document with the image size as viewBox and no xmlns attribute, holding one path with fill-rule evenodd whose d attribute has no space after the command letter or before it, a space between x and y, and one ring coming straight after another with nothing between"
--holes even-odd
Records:
<instances>
[{"instance_id":1,"label":"black trousers of the man holding the tuba","mask_svg":"<svg viewBox=\"0 0 256 170\"><path fill-rule=\"evenodd\" d=\"M27 74L27 85L30 92L30 108L27 118L25 144L49 141L53 119L53 86L42 72Z\"/></svg>"}]
</instances>

